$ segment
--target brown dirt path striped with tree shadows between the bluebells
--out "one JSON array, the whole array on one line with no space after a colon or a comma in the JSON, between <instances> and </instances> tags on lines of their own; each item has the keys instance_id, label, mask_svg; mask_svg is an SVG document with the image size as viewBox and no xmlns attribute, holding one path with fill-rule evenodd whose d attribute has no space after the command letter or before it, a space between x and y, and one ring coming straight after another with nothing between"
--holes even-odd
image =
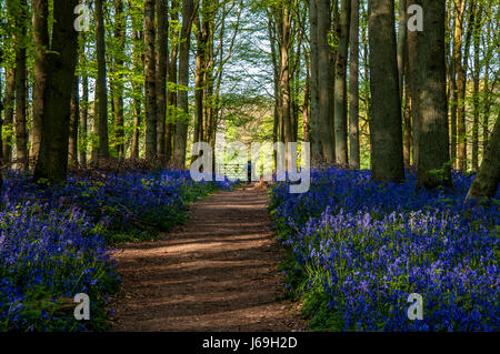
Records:
<instances>
[{"instance_id":1,"label":"brown dirt path striped with tree shadows between the bluebells","mask_svg":"<svg viewBox=\"0 0 500 354\"><path fill-rule=\"evenodd\" d=\"M116 253L123 291L114 331L293 331L300 320L280 301L278 245L267 194L220 191L190 209L164 240Z\"/></svg>"}]
</instances>

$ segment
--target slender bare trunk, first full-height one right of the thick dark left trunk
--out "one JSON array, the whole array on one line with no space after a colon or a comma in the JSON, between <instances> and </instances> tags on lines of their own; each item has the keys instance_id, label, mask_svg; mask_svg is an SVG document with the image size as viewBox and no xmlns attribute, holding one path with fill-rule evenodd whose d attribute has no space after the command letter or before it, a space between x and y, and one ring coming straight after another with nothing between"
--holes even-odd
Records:
<instances>
[{"instance_id":1,"label":"slender bare trunk, first full-height one right of the thick dark left trunk","mask_svg":"<svg viewBox=\"0 0 500 354\"><path fill-rule=\"evenodd\" d=\"M96 21L97 21L97 107L94 112L94 124L97 120L99 149L98 158L109 158L109 136L108 136L108 87L106 72L106 43L104 43L104 17L102 12L102 0L96 0Z\"/></svg>"}]
</instances>

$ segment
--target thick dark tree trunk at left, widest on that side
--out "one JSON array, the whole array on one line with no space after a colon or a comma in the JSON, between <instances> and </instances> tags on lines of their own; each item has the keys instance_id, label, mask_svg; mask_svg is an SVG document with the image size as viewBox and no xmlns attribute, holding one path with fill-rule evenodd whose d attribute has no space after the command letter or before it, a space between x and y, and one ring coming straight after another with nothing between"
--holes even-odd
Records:
<instances>
[{"instance_id":1,"label":"thick dark tree trunk at left, widest on that side","mask_svg":"<svg viewBox=\"0 0 500 354\"><path fill-rule=\"evenodd\" d=\"M78 0L53 0L53 28L47 53L43 124L34 180L60 182L68 171L71 85L78 58L73 11Z\"/></svg>"}]
</instances>

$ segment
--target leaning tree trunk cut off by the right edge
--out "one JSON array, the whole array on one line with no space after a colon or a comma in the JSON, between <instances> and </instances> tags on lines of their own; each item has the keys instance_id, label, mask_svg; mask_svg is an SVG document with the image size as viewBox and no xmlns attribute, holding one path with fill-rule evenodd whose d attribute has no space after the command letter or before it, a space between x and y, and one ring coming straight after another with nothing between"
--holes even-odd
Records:
<instances>
[{"instance_id":1,"label":"leaning tree trunk cut off by the right edge","mask_svg":"<svg viewBox=\"0 0 500 354\"><path fill-rule=\"evenodd\" d=\"M476 176L468 200L480 200L481 198L493 198L500 183L500 113L491 133L490 145L484 153L479 173Z\"/></svg>"}]
</instances>

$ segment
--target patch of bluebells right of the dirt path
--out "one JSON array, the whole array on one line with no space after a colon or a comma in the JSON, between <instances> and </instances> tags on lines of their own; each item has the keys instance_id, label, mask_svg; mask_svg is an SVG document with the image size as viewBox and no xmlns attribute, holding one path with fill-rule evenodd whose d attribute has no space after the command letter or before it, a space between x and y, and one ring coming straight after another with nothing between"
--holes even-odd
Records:
<instances>
[{"instance_id":1,"label":"patch of bluebells right of the dirt path","mask_svg":"<svg viewBox=\"0 0 500 354\"><path fill-rule=\"evenodd\" d=\"M487 206L464 204L472 176L454 191L416 192L371 181L370 171L313 171L311 190L272 190L280 240L304 270L306 292L343 331L499 331L500 191ZM408 318L409 294L423 320Z\"/></svg>"}]
</instances>

